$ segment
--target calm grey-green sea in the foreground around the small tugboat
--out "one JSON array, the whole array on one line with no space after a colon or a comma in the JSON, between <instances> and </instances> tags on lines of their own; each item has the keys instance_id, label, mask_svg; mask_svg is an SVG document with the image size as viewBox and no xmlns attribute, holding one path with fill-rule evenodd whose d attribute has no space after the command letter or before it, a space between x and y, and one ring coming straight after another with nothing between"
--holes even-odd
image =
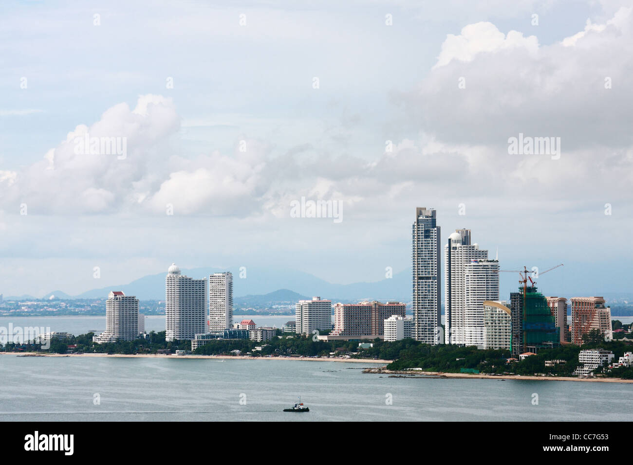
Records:
<instances>
[{"instance_id":1,"label":"calm grey-green sea in the foreground around the small tugboat","mask_svg":"<svg viewBox=\"0 0 633 465\"><path fill-rule=\"evenodd\" d=\"M629 421L633 413L630 384L361 373L371 365L2 355L0 421ZM298 395L310 412L282 412Z\"/></svg>"}]
</instances>

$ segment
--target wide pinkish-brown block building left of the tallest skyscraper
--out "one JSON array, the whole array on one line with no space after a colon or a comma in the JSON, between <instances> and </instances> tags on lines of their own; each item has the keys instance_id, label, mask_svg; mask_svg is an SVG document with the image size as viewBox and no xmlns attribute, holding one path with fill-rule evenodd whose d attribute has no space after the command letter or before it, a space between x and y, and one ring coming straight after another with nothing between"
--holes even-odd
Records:
<instances>
[{"instance_id":1,"label":"wide pinkish-brown block building left of the tallest skyscraper","mask_svg":"<svg viewBox=\"0 0 633 465\"><path fill-rule=\"evenodd\" d=\"M384 321L391 315L404 316L406 304L401 302L360 302L334 306L332 336L383 336Z\"/></svg>"}]
</instances>

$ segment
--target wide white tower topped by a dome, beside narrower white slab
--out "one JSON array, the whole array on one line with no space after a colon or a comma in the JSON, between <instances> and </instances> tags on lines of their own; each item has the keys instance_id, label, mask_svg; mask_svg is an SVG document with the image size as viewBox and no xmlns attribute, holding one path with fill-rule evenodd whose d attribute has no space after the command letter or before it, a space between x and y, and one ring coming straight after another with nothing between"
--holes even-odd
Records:
<instances>
[{"instance_id":1,"label":"wide white tower topped by a dome, beside narrower white slab","mask_svg":"<svg viewBox=\"0 0 633 465\"><path fill-rule=\"evenodd\" d=\"M206 332L206 279L180 275L172 263L165 278L165 338L193 339Z\"/></svg>"}]
</instances>

